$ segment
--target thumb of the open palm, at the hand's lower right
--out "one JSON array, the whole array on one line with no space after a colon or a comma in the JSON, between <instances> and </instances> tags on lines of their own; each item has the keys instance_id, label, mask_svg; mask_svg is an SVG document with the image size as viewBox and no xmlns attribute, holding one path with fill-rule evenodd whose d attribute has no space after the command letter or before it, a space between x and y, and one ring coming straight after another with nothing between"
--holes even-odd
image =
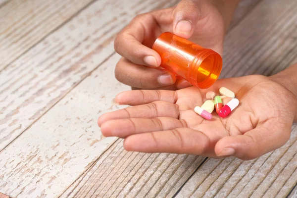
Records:
<instances>
[{"instance_id":1,"label":"thumb of the open palm, at the hand's lower right","mask_svg":"<svg viewBox=\"0 0 297 198\"><path fill-rule=\"evenodd\" d=\"M257 127L244 135L225 137L215 145L215 153L217 156L234 155L249 160L283 146L290 138L291 128L274 130L271 126Z\"/></svg>"}]
</instances>

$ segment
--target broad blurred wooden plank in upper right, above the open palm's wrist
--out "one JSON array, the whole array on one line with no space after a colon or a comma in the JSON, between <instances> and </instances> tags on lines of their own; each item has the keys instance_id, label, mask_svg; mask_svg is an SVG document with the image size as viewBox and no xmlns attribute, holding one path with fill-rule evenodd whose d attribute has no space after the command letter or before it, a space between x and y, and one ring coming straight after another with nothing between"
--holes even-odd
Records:
<instances>
[{"instance_id":1,"label":"broad blurred wooden plank in upper right, above the open palm's wrist","mask_svg":"<svg viewBox=\"0 0 297 198\"><path fill-rule=\"evenodd\" d=\"M258 5L228 34L221 77L271 75L296 58L296 1L264 0Z\"/></svg>"}]
</instances>

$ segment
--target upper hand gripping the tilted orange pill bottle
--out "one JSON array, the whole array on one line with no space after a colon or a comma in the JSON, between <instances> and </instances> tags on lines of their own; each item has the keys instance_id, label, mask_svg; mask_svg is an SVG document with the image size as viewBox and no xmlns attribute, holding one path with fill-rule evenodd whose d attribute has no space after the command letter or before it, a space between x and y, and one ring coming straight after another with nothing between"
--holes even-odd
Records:
<instances>
[{"instance_id":1,"label":"upper hand gripping the tilted orange pill bottle","mask_svg":"<svg viewBox=\"0 0 297 198\"><path fill-rule=\"evenodd\" d=\"M167 31L222 54L224 21L216 6L209 0L182 0L176 7L136 16L117 35L114 48L123 56L115 68L117 80L141 89L176 90L191 86L158 68L161 58L150 48Z\"/></svg>"}]
</instances>

